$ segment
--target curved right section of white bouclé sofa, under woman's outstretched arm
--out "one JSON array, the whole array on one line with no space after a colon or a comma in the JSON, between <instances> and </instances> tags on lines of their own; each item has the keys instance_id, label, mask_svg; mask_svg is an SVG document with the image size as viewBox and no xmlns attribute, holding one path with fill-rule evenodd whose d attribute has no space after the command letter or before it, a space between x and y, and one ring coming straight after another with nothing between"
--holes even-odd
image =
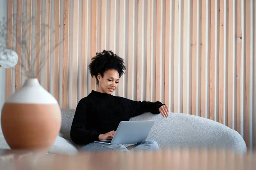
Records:
<instances>
[{"instance_id":1,"label":"curved right section of white boucl\u00e9 sofa, under woman's outstretched arm","mask_svg":"<svg viewBox=\"0 0 256 170\"><path fill-rule=\"evenodd\" d=\"M221 147L242 152L246 148L244 139L235 130L200 116L169 113L169 119L166 119L161 114L144 113L130 120L154 120L147 140L156 141L160 148ZM229 144L232 141L233 144Z\"/></svg>"}]
</instances>

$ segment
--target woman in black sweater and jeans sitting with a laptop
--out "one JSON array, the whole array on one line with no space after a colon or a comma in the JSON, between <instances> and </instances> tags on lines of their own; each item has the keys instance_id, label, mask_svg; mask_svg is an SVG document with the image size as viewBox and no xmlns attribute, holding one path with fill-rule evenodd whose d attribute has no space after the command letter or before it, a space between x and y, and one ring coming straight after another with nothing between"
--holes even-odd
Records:
<instances>
[{"instance_id":1,"label":"woman in black sweater and jeans sitting with a laptop","mask_svg":"<svg viewBox=\"0 0 256 170\"><path fill-rule=\"evenodd\" d=\"M161 102L133 101L111 95L117 88L119 78L124 74L122 58L112 51L97 53L89 65L90 74L96 77L97 91L81 99L71 126L70 137L82 150L129 151L124 145L102 144L94 141L112 139L121 121L145 112L161 113L168 117L168 106ZM158 150L155 141L146 141L131 150Z\"/></svg>"}]
</instances>

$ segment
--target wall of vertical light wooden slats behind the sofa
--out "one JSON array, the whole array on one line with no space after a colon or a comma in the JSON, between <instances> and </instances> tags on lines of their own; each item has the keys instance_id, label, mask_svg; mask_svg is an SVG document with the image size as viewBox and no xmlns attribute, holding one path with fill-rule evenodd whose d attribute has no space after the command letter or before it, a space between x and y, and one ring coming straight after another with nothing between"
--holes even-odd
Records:
<instances>
[{"instance_id":1,"label":"wall of vertical light wooden slats behind the sofa","mask_svg":"<svg viewBox=\"0 0 256 170\"><path fill-rule=\"evenodd\" d=\"M127 68L114 95L215 120L254 148L255 8L253 0L8 0L7 48L19 63L6 71L6 98L35 62L61 108L76 108L97 88L90 59L112 50Z\"/></svg>"}]
</instances>

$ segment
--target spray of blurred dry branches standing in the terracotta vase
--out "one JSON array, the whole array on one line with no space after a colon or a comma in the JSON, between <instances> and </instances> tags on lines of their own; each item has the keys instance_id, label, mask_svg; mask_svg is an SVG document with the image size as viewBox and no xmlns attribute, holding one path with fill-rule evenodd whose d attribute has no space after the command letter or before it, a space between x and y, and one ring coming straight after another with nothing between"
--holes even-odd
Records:
<instances>
[{"instance_id":1,"label":"spray of blurred dry branches standing in the terracotta vase","mask_svg":"<svg viewBox=\"0 0 256 170\"><path fill-rule=\"evenodd\" d=\"M12 26L8 25L10 23L12 23ZM17 20L16 14L13 14L13 16L8 20L6 20L6 18L3 17L3 20L0 21L0 51L6 49L6 45L12 44L12 42L15 41L16 47L20 46L21 48L21 56L19 56L18 61L21 67L21 74L24 74L27 78L37 77L41 69L44 68L44 64L47 62L52 52L54 52L55 49L64 41L64 39L60 40L60 42L58 44L55 44L52 48L50 48L48 52L45 51L44 56L41 56L41 49L45 47L45 45L50 45L50 40L47 42L45 40L45 37L50 34L54 34L55 31L51 31L50 26L48 24L41 23L39 31L35 32L35 35L32 35L32 26L35 26L33 25L35 23L36 17L32 16L23 18L23 20ZM21 28L22 33L20 36L17 36L17 28L15 29L15 27ZM11 39L7 39L7 33L12 34ZM37 38L38 36L39 38ZM32 44L32 40L35 40L35 44ZM39 43L40 47L37 46ZM36 51L37 47L40 50ZM13 50L16 51L16 49ZM44 59L40 59L40 56L44 57ZM38 68L35 68L35 63L37 59L40 59L40 65L38 66Z\"/></svg>"}]
</instances>

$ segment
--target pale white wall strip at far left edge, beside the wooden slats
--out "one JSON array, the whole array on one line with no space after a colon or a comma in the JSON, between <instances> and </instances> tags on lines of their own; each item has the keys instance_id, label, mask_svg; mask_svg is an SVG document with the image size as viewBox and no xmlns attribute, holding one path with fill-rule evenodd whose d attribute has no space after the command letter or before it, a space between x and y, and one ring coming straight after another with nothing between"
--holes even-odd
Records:
<instances>
[{"instance_id":1,"label":"pale white wall strip at far left edge, beside the wooden slats","mask_svg":"<svg viewBox=\"0 0 256 170\"><path fill-rule=\"evenodd\" d=\"M3 17L7 17L7 1L0 0L0 20L3 20ZM5 101L5 85L6 85L6 69L0 68L0 112Z\"/></svg>"}]
</instances>

